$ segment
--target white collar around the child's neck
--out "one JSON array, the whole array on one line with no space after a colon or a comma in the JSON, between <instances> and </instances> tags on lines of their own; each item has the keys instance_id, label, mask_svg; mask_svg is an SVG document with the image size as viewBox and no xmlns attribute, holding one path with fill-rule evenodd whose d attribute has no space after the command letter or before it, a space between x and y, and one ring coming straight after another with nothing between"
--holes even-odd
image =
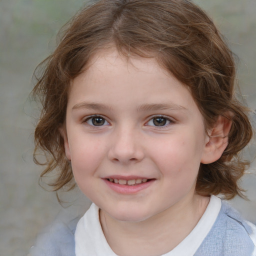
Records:
<instances>
[{"instance_id":1,"label":"white collar around the child's neck","mask_svg":"<svg viewBox=\"0 0 256 256\"><path fill-rule=\"evenodd\" d=\"M192 231L171 251L162 256L192 256L213 226L221 200L212 195L202 217ZM117 256L108 245L99 222L99 208L92 203L75 230L75 256Z\"/></svg>"}]
</instances>

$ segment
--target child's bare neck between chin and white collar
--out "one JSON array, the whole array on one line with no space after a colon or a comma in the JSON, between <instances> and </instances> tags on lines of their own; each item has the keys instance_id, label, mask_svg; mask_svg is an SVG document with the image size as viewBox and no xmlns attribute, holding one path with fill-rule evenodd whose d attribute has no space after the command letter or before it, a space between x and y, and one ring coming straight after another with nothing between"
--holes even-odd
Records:
<instances>
[{"instance_id":1,"label":"child's bare neck between chin and white collar","mask_svg":"<svg viewBox=\"0 0 256 256\"><path fill-rule=\"evenodd\" d=\"M194 228L205 211L209 197L194 195L139 222L113 219L100 210L100 222L111 249L120 256L155 256L178 245Z\"/></svg>"}]
</instances>

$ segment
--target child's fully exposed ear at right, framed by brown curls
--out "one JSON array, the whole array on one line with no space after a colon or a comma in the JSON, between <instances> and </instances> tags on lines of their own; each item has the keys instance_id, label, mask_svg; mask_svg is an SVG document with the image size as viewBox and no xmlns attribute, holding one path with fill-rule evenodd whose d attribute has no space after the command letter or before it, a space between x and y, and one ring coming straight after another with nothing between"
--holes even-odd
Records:
<instances>
[{"instance_id":1,"label":"child's fully exposed ear at right, framed by brown curls","mask_svg":"<svg viewBox=\"0 0 256 256\"><path fill-rule=\"evenodd\" d=\"M227 114L226 116L231 116ZM232 124L231 118L219 115L208 134L208 140L203 149L201 163L211 163L220 158L228 144L228 133Z\"/></svg>"}]
</instances>

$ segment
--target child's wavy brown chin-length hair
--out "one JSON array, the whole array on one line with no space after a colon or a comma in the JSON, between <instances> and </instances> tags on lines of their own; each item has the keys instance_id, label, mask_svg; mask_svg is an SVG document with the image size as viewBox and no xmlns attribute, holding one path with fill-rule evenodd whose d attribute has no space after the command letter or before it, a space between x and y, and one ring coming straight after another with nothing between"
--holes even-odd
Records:
<instances>
[{"instance_id":1,"label":"child's wavy brown chin-length hair","mask_svg":"<svg viewBox=\"0 0 256 256\"><path fill-rule=\"evenodd\" d=\"M43 71L35 75L32 91L42 104L34 160L45 164L41 177L56 171L52 190L75 184L59 130L65 122L70 82L93 54L108 47L127 57L156 58L189 88L205 130L219 115L232 119L226 149L215 162L200 164L195 189L201 195L221 193L226 199L242 196L238 180L248 163L240 151L249 142L252 127L248 109L235 98L234 55L212 20L189 0L100 0L85 6L63 27L56 49L35 70ZM38 150L46 157L43 163Z\"/></svg>"}]
</instances>

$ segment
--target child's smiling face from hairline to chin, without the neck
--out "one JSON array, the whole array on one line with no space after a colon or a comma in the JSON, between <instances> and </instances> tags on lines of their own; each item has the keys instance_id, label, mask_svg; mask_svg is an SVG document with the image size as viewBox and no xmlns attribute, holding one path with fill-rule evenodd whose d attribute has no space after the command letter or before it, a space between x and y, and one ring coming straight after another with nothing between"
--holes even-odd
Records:
<instances>
[{"instance_id":1,"label":"child's smiling face from hairline to chin, without the neck","mask_svg":"<svg viewBox=\"0 0 256 256\"><path fill-rule=\"evenodd\" d=\"M191 201L208 142L185 86L155 59L115 50L99 52L73 80L63 137L79 188L122 221Z\"/></svg>"}]
</instances>

